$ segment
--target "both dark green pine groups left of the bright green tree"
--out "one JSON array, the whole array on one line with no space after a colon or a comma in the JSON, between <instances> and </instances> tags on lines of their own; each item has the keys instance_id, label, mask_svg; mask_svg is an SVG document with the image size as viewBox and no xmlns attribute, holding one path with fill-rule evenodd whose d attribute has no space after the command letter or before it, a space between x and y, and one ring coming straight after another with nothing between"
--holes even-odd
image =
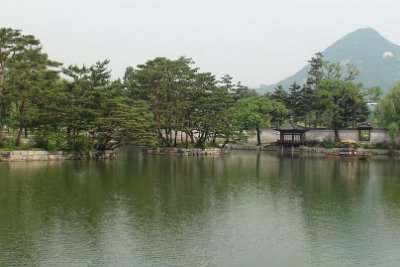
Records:
<instances>
[{"instance_id":1,"label":"both dark green pine groups left of the bright green tree","mask_svg":"<svg viewBox=\"0 0 400 267\"><path fill-rule=\"evenodd\" d=\"M224 146L268 126L271 112L285 113L228 75L217 80L200 72L188 58L128 67L123 81L111 80L108 64L62 67L33 36L2 28L0 146L19 148L23 137L43 149L70 151ZM262 105L254 109L246 101Z\"/></svg>"}]
</instances>

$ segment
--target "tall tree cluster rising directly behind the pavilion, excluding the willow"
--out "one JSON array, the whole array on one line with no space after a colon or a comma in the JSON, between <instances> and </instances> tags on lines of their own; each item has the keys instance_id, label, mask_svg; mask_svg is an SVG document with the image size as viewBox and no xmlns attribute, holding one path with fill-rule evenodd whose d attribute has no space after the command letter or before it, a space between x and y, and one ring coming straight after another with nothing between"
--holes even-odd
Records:
<instances>
[{"instance_id":1,"label":"tall tree cluster rising directly behind the pavilion, excluding the willow","mask_svg":"<svg viewBox=\"0 0 400 267\"><path fill-rule=\"evenodd\" d=\"M355 127L367 120L367 99L378 97L379 90L364 89L355 83L358 70L353 65L347 64L344 70L340 64L325 61L321 53L309 63L311 69L304 85L293 83L289 92L277 87L269 96L288 107L294 122L333 128L338 139L340 128Z\"/></svg>"}]
</instances>

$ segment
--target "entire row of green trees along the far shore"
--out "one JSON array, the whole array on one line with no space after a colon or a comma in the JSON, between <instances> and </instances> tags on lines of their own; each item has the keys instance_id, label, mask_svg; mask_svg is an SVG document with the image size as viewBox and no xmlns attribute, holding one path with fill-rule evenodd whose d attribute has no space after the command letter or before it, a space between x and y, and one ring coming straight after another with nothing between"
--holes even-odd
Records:
<instances>
[{"instance_id":1,"label":"entire row of green trees along the far shore","mask_svg":"<svg viewBox=\"0 0 400 267\"><path fill-rule=\"evenodd\" d=\"M35 146L48 150L204 148L241 142L253 131L261 144L262 128L289 120L335 130L366 121L367 102L377 101L380 89L363 88L354 82L354 66L329 63L321 53L309 63L303 85L265 95L229 75L202 72L186 57L158 57L112 80L109 60L64 67L34 36L1 28L0 147L18 148L33 136ZM384 108L388 102L384 98L378 108L387 120L377 121L396 133L398 118Z\"/></svg>"}]
</instances>

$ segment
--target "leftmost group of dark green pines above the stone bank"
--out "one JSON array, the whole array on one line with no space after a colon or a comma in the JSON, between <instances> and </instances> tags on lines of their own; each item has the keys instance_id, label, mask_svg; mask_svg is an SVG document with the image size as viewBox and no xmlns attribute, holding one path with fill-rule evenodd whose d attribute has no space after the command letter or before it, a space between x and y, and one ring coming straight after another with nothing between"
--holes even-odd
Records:
<instances>
[{"instance_id":1,"label":"leftmost group of dark green pines above the stone bank","mask_svg":"<svg viewBox=\"0 0 400 267\"><path fill-rule=\"evenodd\" d=\"M21 147L23 136L48 150L153 145L149 106L110 80L108 63L60 68L33 36L0 29L0 146Z\"/></svg>"}]
</instances>

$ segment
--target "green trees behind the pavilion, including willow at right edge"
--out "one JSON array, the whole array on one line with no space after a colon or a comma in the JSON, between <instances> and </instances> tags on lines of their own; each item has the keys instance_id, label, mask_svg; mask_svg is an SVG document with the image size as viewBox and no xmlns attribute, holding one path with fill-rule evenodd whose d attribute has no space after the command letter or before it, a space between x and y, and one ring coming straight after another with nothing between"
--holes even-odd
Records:
<instances>
[{"instance_id":1,"label":"green trees behind the pavilion, including willow at right edge","mask_svg":"<svg viewBox=\"0 0 400 267\"><path fill-rule=\"evenodd\" d=\"M334 141L339 141L339 129L357 127L361 122L388 129L392 140L400 136L400 83L383 96L380 87L365 88L355 82L359 70L352 64L331 63L320 52L308 63L303 85L295 82L288 90L278 86L267 93L285 105L290 120L334 129Z\"/></svg>"}]
</instances>

